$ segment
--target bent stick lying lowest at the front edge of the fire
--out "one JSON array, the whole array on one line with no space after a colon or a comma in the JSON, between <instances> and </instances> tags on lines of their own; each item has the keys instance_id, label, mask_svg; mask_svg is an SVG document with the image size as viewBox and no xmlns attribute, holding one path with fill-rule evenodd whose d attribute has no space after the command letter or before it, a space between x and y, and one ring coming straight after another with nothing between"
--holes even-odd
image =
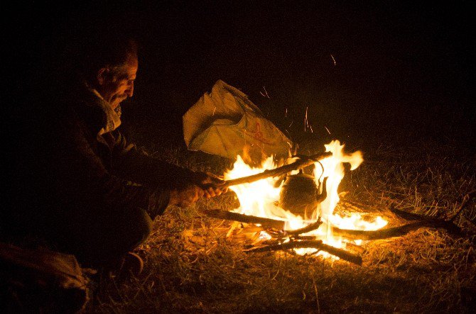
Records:
<instances>
[{"instance_id":1,"label":"bent stick lying lowest at the front edge of the fire","mask_svg":"<svg viewBox=\"0 0 476 314\"><path fill-rule=\"evenodd\" d=\"M344 259L347 262L357 264L362 266L362 257L359 255L352 254L345 251L344 249L339 249L337 247L332 247L330 245L324 244L321 240L311 240L311 241L293 241L283 243L281 245L266 245L264 247L253 247L251 249L245 249L246 253L255 253L255 252L270 252L286 249L302 249L302 248L313 248L320 251L328 252L329 254L335 255L340 259Z\"/></svg>"}]
</instances>

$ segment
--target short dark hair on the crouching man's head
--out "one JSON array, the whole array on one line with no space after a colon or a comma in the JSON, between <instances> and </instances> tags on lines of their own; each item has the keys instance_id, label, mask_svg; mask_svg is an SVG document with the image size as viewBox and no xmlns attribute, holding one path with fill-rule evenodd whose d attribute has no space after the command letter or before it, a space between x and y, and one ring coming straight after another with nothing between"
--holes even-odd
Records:
<instances>
[{"instance_id":1,"label":"short dark hair on the crouching man's head","mask_svg":"<svg viewBox=\"0 0 476 314\"><path fill-rule=\"evenodd\" d=\"M130 57L137 57L138 45L129 34L109 30L87 36L80 62L80 75L88 83L97 79L97 72L109 68L112 75L121 76Z\"/></svg>"}]
</instances>

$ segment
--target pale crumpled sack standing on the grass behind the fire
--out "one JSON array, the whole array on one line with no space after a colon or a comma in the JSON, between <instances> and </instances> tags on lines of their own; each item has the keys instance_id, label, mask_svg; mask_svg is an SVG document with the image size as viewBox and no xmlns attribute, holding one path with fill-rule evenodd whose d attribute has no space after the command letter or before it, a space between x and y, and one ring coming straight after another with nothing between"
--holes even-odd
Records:
<instances>
[{"instance_id":1,"label":"pale crumpled sack standing on the grass behind the fire","mask_svg":"<svg viewBox=\"0 0 476 314\"><path fill-rule=\"evenodd\" d=\"M221 80L183 116L183 137L189 150L229 159L248 153L255 164L288 157L292 145L247 95Z\"/></svg>"}]
</instances>

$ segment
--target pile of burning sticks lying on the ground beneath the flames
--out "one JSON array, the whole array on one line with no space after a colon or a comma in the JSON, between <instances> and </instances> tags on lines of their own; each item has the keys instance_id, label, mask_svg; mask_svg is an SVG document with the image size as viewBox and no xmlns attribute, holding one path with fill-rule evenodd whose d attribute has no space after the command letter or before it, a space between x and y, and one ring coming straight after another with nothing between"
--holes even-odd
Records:
<instances>
[{"instance_id":1,"label":"pile of burning sticks lying on the ground beneath the flames","mask_svg":"<svg viewBox=\"0 0 476 314\"><path fill-rule=\"evenodd\" d=\"M413 222L393 228L384 228L373 231L348 230L331 227L332 234L344 237L347 240L381 240L391 237L400 237L420 228L443 228L450 233L460 234L460 228L455 225L453 221L458 217L468 199L469 197L464 198L459 211L450 218L430 218L425 215L400 211L394 206L391 206L389 208L391 213L394 213L394 215L398 216L399 218L403 218L404 220L413 220ZM239 237L242 237L242 240L251 240L251 245L247 245L247 247L244 249L244 252L247 253L308 248L316 249L313 254L320 251L327 252L328 254L338 257L342 260L362 266L361 254L364 252L364 249L359 245L354 245L352 242L347 242L345 247L346 249L341 249L327 245L323 243L322 240L315 240L314 236L305 235L310 231L320 228L322 225L320 219L315 221L315 223L310 223L304 228L285 230L284 228L286 222L284 220L261 218L253 215L221 211L218 209L206 211L205 215L209 218L234 221L232 228L228 232L228 236L234 237L237 240L240 240ZM271 236L271 239L262 239L262 231L265 231L267 235Z\"/></svg>"}]
</instances>

